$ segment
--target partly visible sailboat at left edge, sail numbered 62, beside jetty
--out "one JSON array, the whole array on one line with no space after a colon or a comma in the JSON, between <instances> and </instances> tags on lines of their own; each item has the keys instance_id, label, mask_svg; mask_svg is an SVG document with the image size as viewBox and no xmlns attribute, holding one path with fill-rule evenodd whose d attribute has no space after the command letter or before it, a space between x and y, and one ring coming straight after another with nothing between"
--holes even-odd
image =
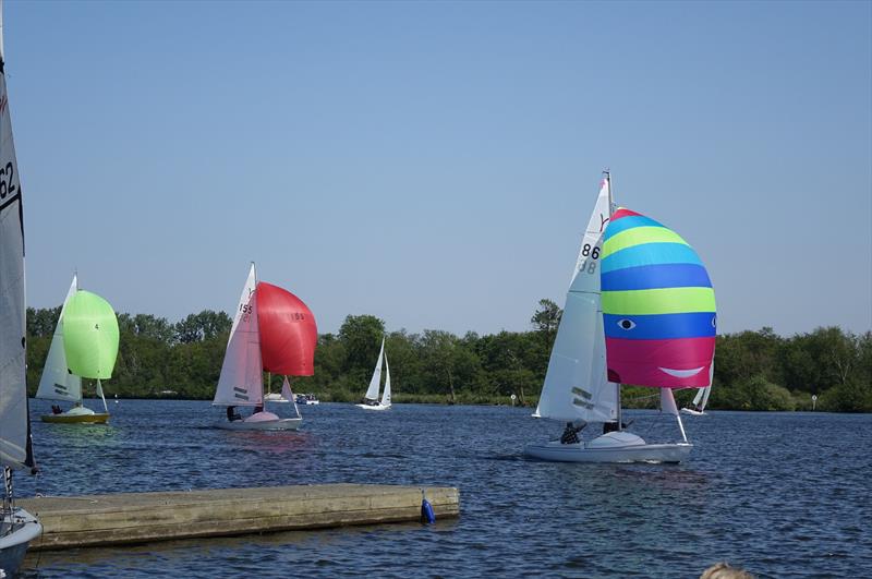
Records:
<instances>
[{"instance_id":1,"label":"partly visible sailboat at left edge, sail numbered 62, beside jetty","mask_svg":"<svg viewBox=\"0 0 872 579\"><path fill-rule=\"evenodd\" d=\"M24 209L12 141L0 3L0 570L13 575L43 526L15 506L12 469L36 472L25 378ZM0 574L0 575L3 575Z\"/></svg>"}]
</instances>

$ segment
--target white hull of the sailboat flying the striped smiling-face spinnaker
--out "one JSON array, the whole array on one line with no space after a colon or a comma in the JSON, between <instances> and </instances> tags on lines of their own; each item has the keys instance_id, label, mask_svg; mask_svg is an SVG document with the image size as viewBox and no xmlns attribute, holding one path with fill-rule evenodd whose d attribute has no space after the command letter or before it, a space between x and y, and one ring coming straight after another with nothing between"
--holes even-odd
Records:
<instances>
[{"instance_id":1,"label":"white hull of the sailboat flying the striped smiling-face spinnaker","mask_svg":"<svg viewBox=\"0 0 872 579\"><path fill-rule=\"evenodd\" d=\"M524 455L556 462L681 462L691 449L690 443L647 444L634 434L611 432L586 443L532 444L524 448Z\"/></svg>"}]
</instances>

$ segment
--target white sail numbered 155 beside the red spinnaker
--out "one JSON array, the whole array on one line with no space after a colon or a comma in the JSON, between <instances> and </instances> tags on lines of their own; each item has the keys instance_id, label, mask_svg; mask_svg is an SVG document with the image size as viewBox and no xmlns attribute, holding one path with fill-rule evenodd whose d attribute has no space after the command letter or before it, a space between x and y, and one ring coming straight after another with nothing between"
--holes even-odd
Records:
<instances>
[{"instance_id":1,"label":"white sail numbered 155 beside the red spinnaker","mask_svg":"<svg viewBox=\"0 0 872 579\"><path fill-rule=\"evenodd\" d=\"M257 328L257 275L254 264L242 288L227 342L221 375L213 405L259 406L264 403L264 372Z\"/></svg>"}]
</instances>

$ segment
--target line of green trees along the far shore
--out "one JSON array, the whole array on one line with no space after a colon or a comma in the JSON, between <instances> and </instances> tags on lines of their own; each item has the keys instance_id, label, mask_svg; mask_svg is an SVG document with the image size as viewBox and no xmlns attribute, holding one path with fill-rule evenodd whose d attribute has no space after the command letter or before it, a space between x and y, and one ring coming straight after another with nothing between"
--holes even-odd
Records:
<instances>
[{"instance_id":1,"label":"line of green trees along the far shore","mask_svg":"<svg viewBox=\"0 0 872 579\"><path fill-rule=\"evenodd\" d=\"M327 401L358 401L366 390L382 337L398 402L516 403L535 406L560 309L541 300L528 331L457 336L425 329L386 331L372 315L349 315L339 331L318 336L315 375L291 379L296 393ZM27 384L33 395L60 315L53 309L27 309ZM122 398L211 399L218 383L231 319L204 310L170 323L150 314L120 314L121 340L109 396ZM86 388L88 381L85 381ZM281 376L271 376L271 391ZM650 388L623 388L630 407L656 403ZM93 390L89 390L93 391ZM678 391L679 403L691 391ZM872 333L822 327L791 337L772 328L717 337L710 408L722 410L872 411Z\"/></svg>"}]
</instances>

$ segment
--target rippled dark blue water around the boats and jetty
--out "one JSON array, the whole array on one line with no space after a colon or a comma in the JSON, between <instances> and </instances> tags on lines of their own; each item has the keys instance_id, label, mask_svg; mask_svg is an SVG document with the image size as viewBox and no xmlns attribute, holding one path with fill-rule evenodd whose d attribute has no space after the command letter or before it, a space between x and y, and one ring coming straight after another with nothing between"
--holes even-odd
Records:
<instances>
[{"instance_id":1,"label":"rippled dark blue water around the boats and jetty","mask_svg":"<svg viewBox=\"0 0 872 579\"><path fill-rule=\"evenodd\" d=\"M43 474L17 475L16 494L434 484L460 488L461 517L32 554L25 577L698 577L723 559L759 577L872 576L869 414L688 417L688 462L604 466L524 459L559 431L530 409L319 405L301 407L296 433L211 429L223 410L208 402L110 411L108 426L37 418ZM630 414L651 441L676 436L670 418Z\"/></svg>"}]
</instances>

